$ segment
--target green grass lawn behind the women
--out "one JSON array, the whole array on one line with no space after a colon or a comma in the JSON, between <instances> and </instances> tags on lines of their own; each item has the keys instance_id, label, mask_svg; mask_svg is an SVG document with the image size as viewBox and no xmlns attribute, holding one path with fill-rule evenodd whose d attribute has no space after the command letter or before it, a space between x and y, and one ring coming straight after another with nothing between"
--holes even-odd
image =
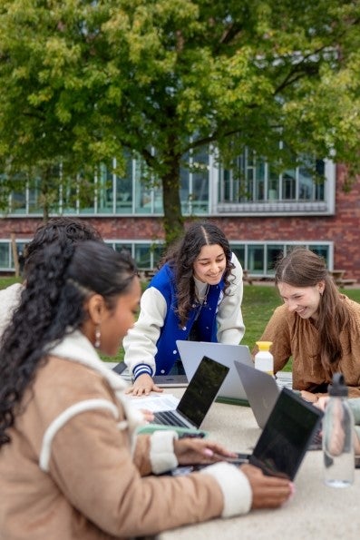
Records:
<instances>
[{"instance_id":1,"label":"green grass lawn behind the women","mask_svg":"<svg viewBox=\"0 0 360 540\"><path fill-rule=\"evenodd\" d=\"M19 281L16 278L0 278L0 289L7 287ZM143 284L143 289L146 284ZM360 289L342 289L349 298L360 303ZM274 309L281 304L277 289L274 285L244 285L244 298L242 302L242 314L246 326L245 336L241 343L248 345L249 349L253 349L255 342L260 338L265 329L268 319ZM107 361L121 361L123 358L123 350L119 351L116 358L106 358ZM287 370L291 370L291 360L287 363Z\"/></svg>"}]
</instances>

